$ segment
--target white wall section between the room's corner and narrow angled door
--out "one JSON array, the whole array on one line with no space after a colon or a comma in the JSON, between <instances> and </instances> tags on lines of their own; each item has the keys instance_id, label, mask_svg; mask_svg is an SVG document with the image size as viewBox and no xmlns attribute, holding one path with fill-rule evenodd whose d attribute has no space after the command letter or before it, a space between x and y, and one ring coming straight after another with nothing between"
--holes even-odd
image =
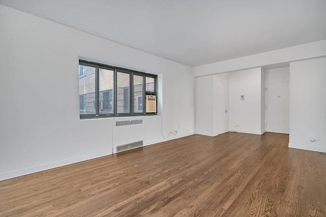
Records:
<instances>
[{"instance_id":1,"label":"white wall section between the room's corner and narrow angled door","mask_svg":"<svg viewBox=\"0 0 326 217\"><path fill-rule=\"evenodd\" d=\"M195 78L195 133L214 136L214 78Z\"/></svg>"}]
</instances>

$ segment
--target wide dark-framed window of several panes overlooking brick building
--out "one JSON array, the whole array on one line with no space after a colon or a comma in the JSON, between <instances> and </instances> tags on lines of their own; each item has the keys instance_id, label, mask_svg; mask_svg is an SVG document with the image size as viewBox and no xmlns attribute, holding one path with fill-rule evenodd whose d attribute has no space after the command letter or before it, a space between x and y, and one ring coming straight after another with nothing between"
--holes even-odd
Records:
<instances>
[{"instance_id":1,"label":"wide dark-framed window of several panes overlooking brick building","mask_svg":"<svg viewBox=\"0 0 326 217\"><path fill-rule=\"evenodd\" d=\"M156 83L153 74L79 60L80 119L153 115L144 108Z\"/></svg>"}]
</instances>

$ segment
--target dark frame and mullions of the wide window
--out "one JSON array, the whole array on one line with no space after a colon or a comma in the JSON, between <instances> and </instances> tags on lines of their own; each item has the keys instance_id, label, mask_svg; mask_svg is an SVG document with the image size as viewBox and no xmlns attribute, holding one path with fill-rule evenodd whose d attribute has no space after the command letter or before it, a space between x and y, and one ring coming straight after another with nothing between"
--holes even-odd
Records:
<instances>
[{"instance_id":1,"label":"dark frame and mullions of the wide window","mask_svg":"<svg viewBox=\"0 0 326 217\"><path fill-rule=\"evenodd\" d=\"M81 66L89 66L89 67L95 67L95 113L94 114L80 114L80 119L94 119L94 118L110 118L110 117L128 117L128 116L144 116L144 115L156 115L156 112L146 112L146 95L154 95L157 96L157 75L149 74L145 72L125 69L121 67L115 67L115 66L109 66L104 65L100 63L95 63L93 61L87 61L83 59L79 59L79 66L78 69ZM100 113L100 91L99 91L99 69L106 69L106 70L112 70L114 72L113 75L113 113L106 113L101 114ZM117 104L117 73L128 73L129 74L129 112L128 113L118 113L118 104ZM143 76L143 112L134 112L134 86L133 86L133 75ZM87 75L84 75L87 76ZM83 77L84 77L83 76ZM146 90L146 77L153 78L154 79L154 91L147 91ZM80 78L80 76L79 76ZM83 95L83 94L81 94ZM79 95L79 96L81 96ZM79 103L80 104L80 103ZM157 101L156 101L156 107L157 107Z\"/></svg>"}]
</instances>

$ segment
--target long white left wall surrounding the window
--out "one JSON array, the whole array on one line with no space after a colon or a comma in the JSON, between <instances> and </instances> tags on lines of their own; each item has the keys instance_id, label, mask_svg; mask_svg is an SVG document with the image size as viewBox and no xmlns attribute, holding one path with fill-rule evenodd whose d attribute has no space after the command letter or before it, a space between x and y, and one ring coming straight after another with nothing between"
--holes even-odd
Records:
<instances>
[{"instance_id":1,"label":"long white left wall surrounding the window","mask_svg":"<svg viewBox=\"0 0 326 217\"><path fill-rule=\"evenodd\" d=\"M3 5L0 29L0 180L112 153L115 119L79 119L79 57L158 74L165 136L194 133L191 67ZM164 141L143 119L145 144Z\"/></svg>"}]
</instances>

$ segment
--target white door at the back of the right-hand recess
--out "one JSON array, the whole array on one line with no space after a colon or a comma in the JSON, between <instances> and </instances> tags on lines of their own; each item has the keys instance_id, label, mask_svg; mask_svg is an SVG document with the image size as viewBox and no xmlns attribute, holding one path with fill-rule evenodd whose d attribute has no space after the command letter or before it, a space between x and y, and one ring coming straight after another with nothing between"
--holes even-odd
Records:
<instances>
[{"instance_id":1,"label":"white door at the back of the right-hand recess","mask_svg":"<svg viewBox=\"0 0 326 217\"><path fill-rule=\"evenodd\" d=\"M266 132L289 134L289 82L267 84Z\"/></svg>"}]
</instances>

